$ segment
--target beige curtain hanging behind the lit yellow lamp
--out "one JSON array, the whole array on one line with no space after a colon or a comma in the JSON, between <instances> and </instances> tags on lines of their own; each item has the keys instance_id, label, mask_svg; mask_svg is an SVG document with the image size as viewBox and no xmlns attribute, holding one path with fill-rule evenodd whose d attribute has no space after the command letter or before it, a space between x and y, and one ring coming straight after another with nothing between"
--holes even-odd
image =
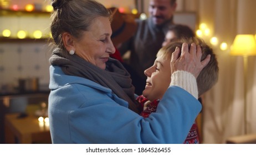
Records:
<instances>
[{"instance_id":1,"label":"beige curtain hanging behind the lit yellow lamp","mask_svg":"<svg viewBox=\"0 0 256 155\"><path fill-rule=\"evenodd\" d=\"M184 11L198 14L211 36L229 46L237 34L256 33L255 0L180 0ZM206 38L208 39L208 38ZM207 41L207 40L206 40ZM243 57L213 47L218 56L218 83L203 96L203 143L226 143L231 136L244 135ZM256 56L248 58L247 133L256 133Z\"/></svg>"}]
</instances>

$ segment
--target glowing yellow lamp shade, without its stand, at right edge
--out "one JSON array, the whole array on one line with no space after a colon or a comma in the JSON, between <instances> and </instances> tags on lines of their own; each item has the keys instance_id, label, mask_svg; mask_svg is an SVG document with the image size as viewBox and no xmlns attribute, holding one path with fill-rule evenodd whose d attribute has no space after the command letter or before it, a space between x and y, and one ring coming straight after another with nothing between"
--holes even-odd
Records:
<instances>
[{"instance_id":1,"label":"glowing yellow lamp shade, without its stand, at right edge","mask_svg":"<svg viewBox=\"0 0 256 155\"><path fill-rule=\"evenodd\" d=\"M256 42L253 34L238 34L231 46L231 55L256 55Z\"/></svg>"}]
</instances>

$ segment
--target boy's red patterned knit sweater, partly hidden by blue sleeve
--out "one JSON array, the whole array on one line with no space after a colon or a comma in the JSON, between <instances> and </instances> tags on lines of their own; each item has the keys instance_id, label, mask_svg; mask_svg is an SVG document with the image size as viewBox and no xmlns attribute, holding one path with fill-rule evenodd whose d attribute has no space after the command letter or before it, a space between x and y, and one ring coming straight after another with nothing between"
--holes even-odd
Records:
<instances>
[{"instance_id":1,"label":"boy's red patterned knit sweater, partly hidden by blue sleeve","mask_svg":"<svg viewBox=\"0 0 256 155\"><path fill-rule=\"evenodd\" d=\"M160 100L155 100L153 102L150 102L147 104L147 108L144 109L145 102L149 101L144 96L139 96L136 99L137 102L140 104L140 109L142 112L140 113L141 116L144 118L149 117L150 113L156 112L156 107ZM199 144L199 137L198 137L198 131L197 131L197 124L196 122L193 123L190 132L188 133L188 136L184 142L184 144Z\"/></svg>"}]
</instances>

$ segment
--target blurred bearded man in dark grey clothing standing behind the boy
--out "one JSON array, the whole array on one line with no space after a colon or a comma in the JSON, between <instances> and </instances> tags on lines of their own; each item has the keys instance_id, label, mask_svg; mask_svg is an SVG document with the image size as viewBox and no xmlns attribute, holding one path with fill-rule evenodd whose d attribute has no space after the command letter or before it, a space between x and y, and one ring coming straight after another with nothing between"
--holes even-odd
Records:
<instances>
[{"instance_id":1,"label":"blurred bearded man in dark grey clothing standing behind the boy","mask_svg":"<svg viewBox=\"0 0 256 155\"><path fill-rule=\"evenodd\" d=\"M136 94L140 95L145 88L144 70L154 63L168 27L173 24L173 13L176 6L176 0L150 0L149 18L137 19L137 30L134 36L117 47L122 55L126 51L131 51L127 63L136 74L136 76L132 76L132 80L137 84L135 85Z\"/></svg>"}]
</instances>

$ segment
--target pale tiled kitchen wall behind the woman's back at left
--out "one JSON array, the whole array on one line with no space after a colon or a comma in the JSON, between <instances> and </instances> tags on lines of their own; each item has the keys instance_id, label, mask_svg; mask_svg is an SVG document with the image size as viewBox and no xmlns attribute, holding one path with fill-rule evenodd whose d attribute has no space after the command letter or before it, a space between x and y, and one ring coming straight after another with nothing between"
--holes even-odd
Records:
<instances>
[{"instance_id":1,"label":"pale tiled kitchen wall behind the woman's back at left","mask_svg":"<svg viewBox=\"0 0 256 155\"><path fill-rule=\"evenodd\" d=\"M47 43L0 43L0 92L13 91L18 78L39 77L40 89L49 84Z\"/></svg>"}]
</instances>

